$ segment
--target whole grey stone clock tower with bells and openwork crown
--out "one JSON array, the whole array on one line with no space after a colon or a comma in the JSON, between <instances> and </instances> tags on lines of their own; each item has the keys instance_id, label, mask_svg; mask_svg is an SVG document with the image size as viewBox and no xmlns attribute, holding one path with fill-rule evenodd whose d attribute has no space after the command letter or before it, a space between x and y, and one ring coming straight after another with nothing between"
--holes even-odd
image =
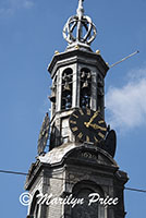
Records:
<instances>
[{"instance_id":1,"label":"whole grey stone clock tower with bells and openwork crown","mask_svg":"<svg viewBox=\"0 0 146 218\"><path fill-rule=\"evenodd\" d=\"M51 117L44 120L38 157L25 189L32 195L27 218L124 218L125 172L114 161L115 132L105 122L105 76L96 27L83 0L64 28L66 50L56 52L51 74ZM49 137L49 152L45 146Z\"/></svg>"}]
</instances>

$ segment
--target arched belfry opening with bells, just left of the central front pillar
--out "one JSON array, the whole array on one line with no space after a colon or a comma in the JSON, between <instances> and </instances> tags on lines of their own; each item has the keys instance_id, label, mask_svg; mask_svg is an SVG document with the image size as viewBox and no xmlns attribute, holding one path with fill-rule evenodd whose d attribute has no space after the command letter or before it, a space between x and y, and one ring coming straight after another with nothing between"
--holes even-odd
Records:
<instances>
[{"instance_id":1,"label":"arched belfry opening with bells, just left of the central front pillar","mask_svg":"<svg viewBox=\"0 0 146 218\"><path fill-rule=\"evenodd\" d=\"M69 109L72 107L72 69L65 69L62 73L61 109Z\"/></svg>"}]
</instances>

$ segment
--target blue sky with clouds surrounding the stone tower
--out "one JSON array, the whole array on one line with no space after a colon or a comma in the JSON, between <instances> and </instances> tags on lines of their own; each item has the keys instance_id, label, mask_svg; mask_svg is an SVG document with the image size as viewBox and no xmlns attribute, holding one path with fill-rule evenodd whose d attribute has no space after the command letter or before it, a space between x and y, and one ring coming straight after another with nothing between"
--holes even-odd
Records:
<instances>
[{"instance_id":1,"label":"blue sky with clouds surrounding the stone tower","mask_svg":"<svg viewBox=\"0 0 146 218\"><path fill-rule=\"evenodd\" d=\"M93 50L110 64L139 55L109 70L106 121L117 131L115 160L129 173L126 186L146 190L146 1L85 0L96 24ZM64 51L62 28L76 13L77 0L0 0L0 169L27 172L37 155L37 140L51 85L47 65ZM1 217L26 217L19 202L25 177L0 173ZM125 191L127 218L144 217L146 194ZM8 209L9 208L9 209Z\"/></svg>"}]
</instances>

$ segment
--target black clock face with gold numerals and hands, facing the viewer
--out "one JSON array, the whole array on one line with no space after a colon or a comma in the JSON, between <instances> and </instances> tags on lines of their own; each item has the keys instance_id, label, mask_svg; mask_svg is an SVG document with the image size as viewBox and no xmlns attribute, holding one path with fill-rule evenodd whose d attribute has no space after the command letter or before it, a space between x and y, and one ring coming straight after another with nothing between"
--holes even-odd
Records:
<instances>
[{"instance_id":1,"label":"black clock face with gold numerals and hands, facing the viewer","mask_svg":"<svg viewBox=\"0 0 146 218\"><path fill-rule=\"evenodd\" d=\"M99 143L105 138L107 125L99 111L76 109L69 120L71 131L81 142Z\"/></svg>"}]
</instances>

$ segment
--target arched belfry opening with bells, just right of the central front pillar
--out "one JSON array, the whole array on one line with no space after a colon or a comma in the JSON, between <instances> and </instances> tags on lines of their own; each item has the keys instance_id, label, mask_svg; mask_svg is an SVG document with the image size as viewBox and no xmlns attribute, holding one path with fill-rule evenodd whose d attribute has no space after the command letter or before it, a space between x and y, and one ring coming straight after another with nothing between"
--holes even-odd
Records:
<instances>
[{"instance_id":1,"label":"arched belfry opening with bells, just right of the central front pillar","mask_svg":"<svg viewBox=\"0 0 146 218\"><path fill-rule=\"evenodd\" d=\"M81 98L80 107L89 108L90 107L90 95L92 95L92 73L87 68L83 68L80 74L80 86L81 86Z\"/></svg>"}]
</instances>

